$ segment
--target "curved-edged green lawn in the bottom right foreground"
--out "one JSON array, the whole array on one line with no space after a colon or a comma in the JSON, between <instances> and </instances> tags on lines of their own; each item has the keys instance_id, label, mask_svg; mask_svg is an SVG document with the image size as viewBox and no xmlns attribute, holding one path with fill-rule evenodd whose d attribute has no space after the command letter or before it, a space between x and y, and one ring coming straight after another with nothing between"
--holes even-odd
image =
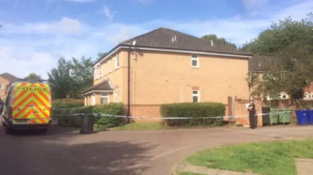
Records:
<instances>
[{"instance_id":1,"label":"curved-edged green lawn in the bottom right foreground","mask_svg":"<svg viewBox=\"0 0 313 175\"><path fill-rule=\"evenodd\" d=\"M212 148L186 161L208 168L262 175L297 175L294 157L313 158L313 139Z\"/></svg>"}]
</instances>

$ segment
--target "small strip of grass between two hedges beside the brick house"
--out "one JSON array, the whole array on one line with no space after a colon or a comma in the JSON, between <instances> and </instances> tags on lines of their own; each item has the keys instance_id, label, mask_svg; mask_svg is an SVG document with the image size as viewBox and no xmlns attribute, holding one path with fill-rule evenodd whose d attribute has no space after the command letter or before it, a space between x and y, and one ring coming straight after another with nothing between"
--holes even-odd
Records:
<instances>
[{"instance_id":1,"label":"small strip of grass between two hedges beside the brick house","mask_svg":"<svg viewBox=\"0 0 313 175\"><path fill-rule=\"evenodd\" d=\"M159 122L142 122L142 123L130 123L123 126L112 128L112 130L160 130L167 127L161 125Z\"/></svg>"}]
</instances>

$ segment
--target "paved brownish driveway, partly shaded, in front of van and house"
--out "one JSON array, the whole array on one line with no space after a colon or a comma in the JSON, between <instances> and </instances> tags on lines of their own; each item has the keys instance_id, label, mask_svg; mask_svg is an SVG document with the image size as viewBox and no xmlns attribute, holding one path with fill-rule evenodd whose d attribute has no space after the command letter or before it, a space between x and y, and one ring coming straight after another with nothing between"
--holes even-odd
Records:
<instances>
[{"instance_id":1,"label":"paved brownish driveway, partly shaded, in front of van and house","mask_svg":"<svg viewBox=\"0 0 313 175\"><path fill-rule=\"evenodd\" d=\"M0 127L3 175L170 175L184 156L239 142L312 137L313 127L108 131L80 135L53 126L47 135L5 135Z\"/></svg>"}]
</instances>

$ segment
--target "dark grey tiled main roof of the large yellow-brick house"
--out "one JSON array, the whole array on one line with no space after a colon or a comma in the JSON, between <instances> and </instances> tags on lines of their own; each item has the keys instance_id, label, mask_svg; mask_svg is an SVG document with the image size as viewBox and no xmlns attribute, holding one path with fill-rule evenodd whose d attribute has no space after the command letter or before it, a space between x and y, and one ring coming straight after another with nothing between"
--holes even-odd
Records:
<instances>
[{"instance_id":1,"label":"dark grey tiled main roof of the large yellow-brick house","mask_svg":"<svg viewBox=\"0 0 313 175\"><path fill-rule=\"evenodd\" d=\"M176 41L172 41L172 38L176 36ZM213 52L220 54L236 54L243 56L252 56L253 54L245 51L237 50L228 46L224 46L218 43L211 45L210 41L194 37L188 34L181 33L168 28L158 28L148 33L136 36L132 39L122 41L115 46L109 53L115 50L119 46L130 46L132 42L136 40L136 46L159 48L159 49L176 49L186 51L199 51L199 52ZM100 61L99 59L98 61ZM98 62L97 61L97 62ZM96 63L97 63L96 62ZM95 63L95 64L96 64Z\"/></svg>"}]
</instances>

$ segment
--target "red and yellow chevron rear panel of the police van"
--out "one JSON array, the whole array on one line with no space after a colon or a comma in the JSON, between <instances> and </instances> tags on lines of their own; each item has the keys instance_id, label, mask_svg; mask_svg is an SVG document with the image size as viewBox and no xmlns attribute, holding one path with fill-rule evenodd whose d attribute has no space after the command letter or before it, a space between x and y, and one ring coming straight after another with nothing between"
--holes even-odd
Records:
<instances>
[{"instance_id":1,"label":"red and yellow chevron rear panel of the police van","mask_svg":"<svg viewBox=\"0 0 313 175\"><path fill-rule=\"evenodd\" d=\"M45 83L17 83L13 90L12 107L13 119L27 118L30 119L29 124L48 123L51 108L49 85Z\"/></svg>"}]
</instances>

